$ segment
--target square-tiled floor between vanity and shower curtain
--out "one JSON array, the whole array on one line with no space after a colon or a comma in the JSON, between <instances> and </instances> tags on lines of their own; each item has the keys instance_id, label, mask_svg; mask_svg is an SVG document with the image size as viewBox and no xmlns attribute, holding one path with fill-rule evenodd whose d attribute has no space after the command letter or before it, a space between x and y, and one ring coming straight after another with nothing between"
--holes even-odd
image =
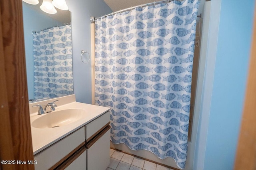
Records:
<instances>
[{"instance_id":1,"label":"square-tiled floor between vanity and shower curtain","mask_svg":"<svg viewBox=\"0 0 256 170\"><path fill-rule=\"evenodd\" d=\"M106 170L172 170L164 166L110 149L110 164Z\"/></svg>"}]
</instances>

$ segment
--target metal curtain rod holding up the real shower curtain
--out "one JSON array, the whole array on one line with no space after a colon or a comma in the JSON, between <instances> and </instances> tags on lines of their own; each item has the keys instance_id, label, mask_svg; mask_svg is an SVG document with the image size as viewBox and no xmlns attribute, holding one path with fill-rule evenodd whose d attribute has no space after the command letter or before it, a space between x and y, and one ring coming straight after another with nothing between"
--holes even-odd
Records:
<instances>
[{"instance_id":1,"label":"metal curtain rod holding up the real shower curtain","mask_svg":"<svg viewBox=\"0 0 256 170\"><path fill-rule=\"evenodd\" d=\"M110 14L107 14L107 15L104 15L104 16L101 16L101 17L106 17L106 16L110 16L110 15L114 15L114 14L116 14L116 13L121 13L121 12L125 12L125 11L129 11L129 10L132 10L132 9L134 9L134 8L138 8L138 7L143 7L143 6L150 6L150 5L156 5L156 4L161 4L161 3L164 3L164 2L172 2L172 1L174 1L174 0L163 0L163 1L158 1L158 2L151 2L151 3L147 3L147 4L141 4L141 5L138 5L138 6L133 6L133 7L130 7L130 8L125 8L125 9L123 9L123 10L119 10L119 11L116 11L116 12L112 12L112 13L110 13ZM181 0L176 0L176 1L181 1ZM209 1L209 0L208 0ZM100 19L101 17L98 17L98 18L95 18L95 17L93 17L93 16L91 16L90 17L90 21L91 21L91 23L95 23L95 21L97 20L97 19Z\"/></svg>"}]
</instances>

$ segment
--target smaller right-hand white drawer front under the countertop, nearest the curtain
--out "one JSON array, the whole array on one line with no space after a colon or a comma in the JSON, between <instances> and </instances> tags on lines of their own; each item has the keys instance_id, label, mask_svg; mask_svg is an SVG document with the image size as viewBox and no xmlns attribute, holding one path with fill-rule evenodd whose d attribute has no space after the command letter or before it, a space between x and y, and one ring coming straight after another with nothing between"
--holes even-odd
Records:
<instances>
[{"instance_id":1,"label":"smaller right-hand white drawer front under the countertop, nearest the curtain","mask_svg":"<svg viewBox=\"0 0 256 170\"><path fill-rule=\"evenodd\" d=\"M110 121L110 111L107 111L97 119L91 121L87 125L85 125L86 133L85 133L85 139L86 142L90 141L94 137L94 135L97 135L97 133L100 132L100 130L103 130L102 128L107 125Z\"/></svg>"}]
</instances>

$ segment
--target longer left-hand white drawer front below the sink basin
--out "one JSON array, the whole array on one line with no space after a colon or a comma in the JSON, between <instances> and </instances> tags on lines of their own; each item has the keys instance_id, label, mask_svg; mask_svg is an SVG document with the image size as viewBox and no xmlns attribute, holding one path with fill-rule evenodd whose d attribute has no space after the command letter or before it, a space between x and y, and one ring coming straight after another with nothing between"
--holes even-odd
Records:
<instances>
[{"instance_id":1,"label":"longer left-hand white drawer front below the sink basin","mask_svg":"<svg viewBox=\"0 0 256 170\"><path fill-rule=\"evenodd\" d=\"M78 146L84 144L84 133L85 129L84 127L81 127L80 129L36 154L34 156L34 160L37 160L38 163L35 165L35 169L46 170L51 168Z\"/></svg>"}]
</instances>

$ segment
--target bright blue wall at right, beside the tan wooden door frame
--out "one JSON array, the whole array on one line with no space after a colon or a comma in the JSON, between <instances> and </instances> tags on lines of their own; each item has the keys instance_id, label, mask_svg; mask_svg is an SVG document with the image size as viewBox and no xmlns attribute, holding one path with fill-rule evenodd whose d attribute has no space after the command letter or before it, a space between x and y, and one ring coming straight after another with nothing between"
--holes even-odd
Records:
<instances>
[{"instance_id":1,"label":"bright blue wall at right, beside the tan wooden door frame","mask_svg":"<svg viewBox=\"0 0 256 170\"><path fill-rule=\"evenodd\" d=\"M221 2L204 170L232 170L234 166L246 89L253 14L254 0Z\"/></svg>"}]
</instances>

